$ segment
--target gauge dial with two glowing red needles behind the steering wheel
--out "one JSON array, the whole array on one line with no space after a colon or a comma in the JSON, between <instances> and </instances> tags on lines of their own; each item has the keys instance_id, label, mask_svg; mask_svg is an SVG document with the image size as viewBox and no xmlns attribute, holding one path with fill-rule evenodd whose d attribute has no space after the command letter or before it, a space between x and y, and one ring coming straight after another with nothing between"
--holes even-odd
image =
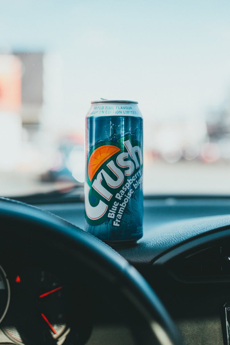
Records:
<instances>
[{"instance_id":1,"label":"gauge dial with two glowing red needles behind the steering wheel","mask_svg":"<svg viewBox=\"0 0 230 345\"><path fill-rule=\"evenodd\" d=\"M68 296L59 279L44 270L26 272L14 276L11 287L3 332L17 344L63 344L70 328Z\"/></svg>"}]
</instances>

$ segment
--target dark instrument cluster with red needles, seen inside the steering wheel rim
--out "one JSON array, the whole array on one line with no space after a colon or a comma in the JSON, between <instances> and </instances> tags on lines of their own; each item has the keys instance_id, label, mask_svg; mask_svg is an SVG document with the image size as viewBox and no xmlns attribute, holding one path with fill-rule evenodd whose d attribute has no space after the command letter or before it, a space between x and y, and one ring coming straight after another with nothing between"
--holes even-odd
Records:
<instances>
[{"instance_id":1,"label":"dark instrument cluster with red needles, seen inside the steering wheel rim","mask_svg":"<svg viewBox=\"0 0 230 345\"><path fill-rule=\"evenodd\" d=\"M67 272L7 266L0 266L0 344L67 345L89 336L85 289Z\"/></svg>"}]
</instances>

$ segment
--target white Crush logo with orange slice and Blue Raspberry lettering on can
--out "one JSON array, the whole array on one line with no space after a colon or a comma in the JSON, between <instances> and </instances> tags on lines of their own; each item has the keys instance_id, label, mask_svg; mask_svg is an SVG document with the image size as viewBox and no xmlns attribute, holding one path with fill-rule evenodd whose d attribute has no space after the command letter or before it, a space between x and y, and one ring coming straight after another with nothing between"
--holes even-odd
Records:
<instances>
[{"instance_id":1,"label":"white Crush logo with orange slice and Blue Raspberry lettering on can","mask_svg":"<svg viewBox=\"0 0 230 345\"><path fill-rule=\"evenodd\" d=\"M104 142L90 151L85 183L86 219L97 225L112 219L120 226L123 212L142 182L142 148L132 137L117 145Z\"/></svg>"}]
</instances>

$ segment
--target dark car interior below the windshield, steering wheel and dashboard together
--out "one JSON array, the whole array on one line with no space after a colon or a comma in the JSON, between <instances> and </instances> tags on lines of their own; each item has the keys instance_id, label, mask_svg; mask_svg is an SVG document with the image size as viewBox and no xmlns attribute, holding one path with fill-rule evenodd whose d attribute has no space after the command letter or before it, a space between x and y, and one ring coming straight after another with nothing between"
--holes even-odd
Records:
<instances>
[{"instance_id":1,"label":"dark car interior below the windshield, steering wheel and dashboard together","mask_svg":"<svg viewBox=\"0 0 230 345\"><path fill-rule=\"evenodd\" d=\"M1 199L1 344L227 344L227 198L146 198L142 239L113 249L82 201L33 203Z\"/></svg>"}]
</instances>

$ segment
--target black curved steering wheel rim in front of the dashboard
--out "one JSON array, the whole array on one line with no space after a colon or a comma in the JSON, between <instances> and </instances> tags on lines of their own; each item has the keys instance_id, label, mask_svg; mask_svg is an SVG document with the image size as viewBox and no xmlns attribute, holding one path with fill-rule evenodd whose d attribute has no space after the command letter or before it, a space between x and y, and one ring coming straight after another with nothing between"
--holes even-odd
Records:
<instances>
[{"instance_id":1,"label":"black curved steering wheel rim in front of the dashboard","mask_svg":"<svg viewBox=\"0 0 230 345\"><path fill-rule=\"evenodd\" d=\"M24 243L39 247L41 253L48 244L60 256L68 255L73 266L83 267L81 279L93 271L93 286L105 289L109 284L125 301L121 313L130 321L136 344L182 344L176 326L146 280L108 245L47 211L6 198L0 198L0 222L0 243L9 248L12 242Z\"/></svg>"}]
</instances>

